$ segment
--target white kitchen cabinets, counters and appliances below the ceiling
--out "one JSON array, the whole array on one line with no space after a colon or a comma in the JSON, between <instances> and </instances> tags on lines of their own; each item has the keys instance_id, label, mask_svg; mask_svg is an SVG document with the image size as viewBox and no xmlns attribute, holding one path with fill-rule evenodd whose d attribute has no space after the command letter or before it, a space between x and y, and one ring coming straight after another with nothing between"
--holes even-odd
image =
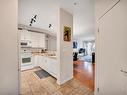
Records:
<instances>
[{"instance_id":1,"label":"white kitchen cabinets, counters and appliances below the ceiling","mask_svg":"<svg viewBox=\"0 0 127 95\"><path fill-rule=\"evenodd\" d=\"M18 32L21 71L39 67L57 79L56 35L25 25L19 25Z\"/></svg>"}]
</instances>

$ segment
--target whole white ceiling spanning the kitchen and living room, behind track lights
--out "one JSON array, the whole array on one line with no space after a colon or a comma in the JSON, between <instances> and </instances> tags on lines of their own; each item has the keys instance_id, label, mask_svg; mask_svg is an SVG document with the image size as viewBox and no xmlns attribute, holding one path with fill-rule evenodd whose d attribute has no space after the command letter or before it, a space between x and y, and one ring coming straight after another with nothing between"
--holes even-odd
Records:
<instances>
[{"instance_id":1,"label":"whole white ceiling spanning the kitchen and living room, behind track lights","mask_svg":"<svg viewBox=\"0 0 127 95\"><path fill-rule=\"evenodd\" d=\"M19 0L19 23L28 25L30 18L37 14L34 27L49 29L51 23L52 31L57 31L58 7L73 14L75 39L94 38L94 0Z\"/></svg>"}]
</instances>

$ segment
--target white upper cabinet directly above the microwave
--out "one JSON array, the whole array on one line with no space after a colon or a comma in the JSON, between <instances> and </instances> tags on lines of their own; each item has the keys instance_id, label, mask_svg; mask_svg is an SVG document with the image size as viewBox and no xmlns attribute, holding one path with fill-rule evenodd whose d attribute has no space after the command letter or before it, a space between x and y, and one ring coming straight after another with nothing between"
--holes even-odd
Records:
<instances>
[{"instance_id":1,"label":"white upper cabinet directly above the microwave","mask_svg":"<svg viewBox=\"0 0 127 95\"><path fill-rule=\"evenodd\" d=\"M31 41L31 32L27 30L19 30L21 34L21 40Z\"/></svg>"}]
</instances>

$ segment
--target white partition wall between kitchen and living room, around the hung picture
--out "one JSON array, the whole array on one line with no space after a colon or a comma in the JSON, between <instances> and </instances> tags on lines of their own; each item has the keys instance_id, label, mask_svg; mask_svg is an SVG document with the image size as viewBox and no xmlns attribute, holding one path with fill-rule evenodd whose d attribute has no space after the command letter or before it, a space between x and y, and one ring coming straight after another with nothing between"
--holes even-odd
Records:
<instances>
[{"instance_id":1,"label":"white partition wall between kitchen and living room, around the hung picture","mask_svg":"<svg viewBox=\"0 0 127 95\"><path fill-rule=\"evenodd\" d=\"M60 28L57 32L57 50L60 68L58 69L57 83L63 84L73 78L73 16L63 9L60 9L59 16ZM71 27L71 42L63 40L64 26Z\"/></svg>"}]
</instances>

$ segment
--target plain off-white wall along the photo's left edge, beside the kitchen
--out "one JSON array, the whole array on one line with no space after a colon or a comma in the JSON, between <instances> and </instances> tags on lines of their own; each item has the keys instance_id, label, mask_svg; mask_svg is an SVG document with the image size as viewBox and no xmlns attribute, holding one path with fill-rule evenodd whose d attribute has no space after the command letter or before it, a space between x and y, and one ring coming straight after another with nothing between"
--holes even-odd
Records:
<instances>
[{"instance_id":1,"label":"plain off-white wall along the photo's left edge, beside the kitchen","mask_svg":"<svg viewBox=\"0 0 127 95\"><path fill-rule=\"evenodd\" d=\"M0 95L18 95L17 1L0 0Z\"/></svg>"}]
</instances>

